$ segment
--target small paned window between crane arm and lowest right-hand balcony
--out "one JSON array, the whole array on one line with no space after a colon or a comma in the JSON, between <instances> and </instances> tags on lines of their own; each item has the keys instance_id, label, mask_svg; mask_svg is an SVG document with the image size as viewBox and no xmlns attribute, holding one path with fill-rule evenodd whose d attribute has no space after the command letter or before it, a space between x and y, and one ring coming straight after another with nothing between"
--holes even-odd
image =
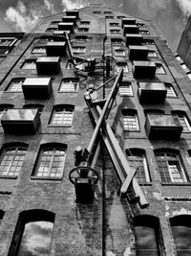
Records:
<instances>
[{"instance_id":1,"label":"small paned window between crane arm and lowest right-hand balcony","mask_svg":"<svg viewBox=\"0 0 191 256\"><path fill-rule=\"evenodd\" d=\"M138 130L138 115L136 110L130 109L122 110L123 115L123 127L125 130Z\"/></svg>"}]
</instances>

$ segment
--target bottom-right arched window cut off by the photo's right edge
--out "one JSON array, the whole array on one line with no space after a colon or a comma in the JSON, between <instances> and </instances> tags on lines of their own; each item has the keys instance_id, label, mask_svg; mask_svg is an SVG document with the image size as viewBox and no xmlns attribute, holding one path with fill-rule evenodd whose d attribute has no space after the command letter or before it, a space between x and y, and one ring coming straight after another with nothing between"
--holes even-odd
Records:
<instances>
[{"instance_id":1,"label":"bottom-right arched window cut off by the photo's right edge","mask_svg":"<svg viewBox=\"0 0 191 256\"><path fill-rule=\"evenodd\" d=\"M191 255L191 216L180 215L170 219L178 256Z\"/></svg>"}]
</instances>

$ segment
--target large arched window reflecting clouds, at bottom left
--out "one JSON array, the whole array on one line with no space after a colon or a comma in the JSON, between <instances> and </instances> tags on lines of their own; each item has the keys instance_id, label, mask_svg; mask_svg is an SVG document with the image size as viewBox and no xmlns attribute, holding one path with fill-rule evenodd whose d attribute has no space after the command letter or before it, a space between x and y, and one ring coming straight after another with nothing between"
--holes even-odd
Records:
<instances>
[{"instance_id":1,"label":"large arched window reflecting clouds, at bottom left","mask_svg":"<svg viewBox=\"0 0 191 256\"><path fill-rule=\"evenodd\" d=\"M8 256L50 254L54 214L45 210L20 213Z\"/></svg>"}]
</instances>

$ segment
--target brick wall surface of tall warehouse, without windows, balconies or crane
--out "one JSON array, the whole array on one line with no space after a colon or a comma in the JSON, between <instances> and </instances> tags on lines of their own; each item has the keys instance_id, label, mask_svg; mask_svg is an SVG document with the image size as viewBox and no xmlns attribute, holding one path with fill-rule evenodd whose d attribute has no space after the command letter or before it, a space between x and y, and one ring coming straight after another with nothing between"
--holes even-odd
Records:
<instances>
[{"instance_id":1,"label":"brick wall surface of tall warehouse, without windows, balconies or crane","mask_svg":"<svg viewBox=\"0 0 191 256\"><path fill-rule=\"evenodd\" d=\"M49 252L51 256L134 256L137 255L137 250L141 253L138 255L147 255L148 248L141 248L141 238L138 235L138 227L142 226L145 229L154 230L153 237L157 241L158 248L152 248L155 253L152 255L178 255L179 249L175 244L171 220L175 217L183 219L185 215L190 216L191 214L191 129L182 131L178 140L170 137L169 139L152 140L149 138L145 122L149 113L163 111L163 114L175 115L174 113L178 112L177 115L181 118L186 117L186 124L189 127L191 122L190 81L152 21L136 17L136 22L143 24L140 28L149 33L142 35L143 42L148 47L148 51L156 53L154 57L148 57L147 60L160 64L164 72L156 72L153 80L147 78L138 80L134 77L135 65L129 59L130 48L126 44L126 36L123 35L121 27L121 17L132 18L132 16L100 5L91 5L81 9L78 14L79 18L74 26L74 32L70 35L72 46L75 49L78 48L78 51L85 47L85 52L79 53L78 56L86 59L96 58L99 61L99 68L94 74L87 74L87 72L77 74L74 69L68 68L67 53L60 57L60 70L56 75L38 74L35 67L34 69L22 68L27 59L36 61L39 57L46 57L46 52L33 54L34 47L45 48L47 43L53 38L55 39L56 36L63 39L62 35L53 35L53 32L46 31L48 28L55 28L56 31L55 21L61 22L62 17L66 15L65 12L39 20L32 34L25 35L1 64L0 108L5 108L3 106L9 104L15 109L24 108L27 105L36 105L36 107L42 105L43 110L40 115L40 126L35 134L14 134L13 131L8 134L3 126L0 127L0 167L5 149L7 149L5 147L16 147L18 143L24 143L22 145L27 147L19 175L0 175L0 210L3 213L0 224L0 255L17 255L23 232L19 233L19 221L23 221L20 217L22 213L28 211L30 213L31 210L44 211L44 219L39 218L39 221L48 220L46 213L53 213L53 233ZM89 21L90 24L84 25L83 21ZM88 32L80 33L79 28L86 28ZM115 40L112 41L112 39ZM121 42L117 41L118 39L121 39ZM150 43L146 43L149 40ZM64 41L66 40L64 39ZM117 51L120 53L122 51L122 55ZM81 146L82 149L87 148L94 132L95 124L84 101L84 93L87 91L88 84L94 83L97 88L104 82L104 70L101 62L103 55L113 57L117 64L124 62L127 65L123 81L128 81L131 84L133 93L131 96L120 96L117 93L108 123L114 130L125 155L129 153L129 159L134 157L135 166L138 161L142 163L145 175L140 175L139 185L149 202L149 206L145 209L141 209L138 203L129 203L127 198L120 197L118 192L121 184L110 155L101 140L92 165L99 174L98 183L94 187L93 203L76 203L74 185L69 181L70 171L74 168L75 148L77 146ZM116 65L110 75L117 75L117 72ZM52 78L53 92L49 99L26 99L23 90L18 92L9 90L12 79L19 78ZM74 92L60 91L63 78L78 79L77 90ZM163 104L142 104L139 100L138 82L143 81L147 83L160 82L166 86L170 84L175 91L175 97L166 96ZM108 97L113 84L114 81L111 81L105 87L106 97ZM102 99L102 89L98 93ZM53 107L56 105L74 105L72 126L53 125L51 120ZM129 109L136 110L134 112L138 116L138 129L136 130L124 128L122 113ZM12 124L12 130L14 130L14 124ZM162 132L160 129L159 133L162 134ZM36 175L39 157L42 155L41 150L46 145L49 146L49 149L57 146L65 149L64 166L62 166L61 175L57 177ZM167 171L170 173L171 181L162 181L157 155L163 158L164 156L174 157L168 161L169 169ZM141 160L138 157L141 157ZM173 173L173 168L177 168L174 170L177 172L176 175L179 176L180 172L182 182L173 180L177 177ZM165 170L164 173L167 171ZM143 177L146 181L143 180ZM143 221L136 221L138 217L143 218L140 219ZM21 223L22 230L25 223L32 221L34 216L30 218ZM153 226L155 221L148 223L148 221L144 221L144 218L145 220L158 220L159 227ZM36 217L35 220L38 218ZM186 226L185 223L179 223L178 226ZM189 224L187 225L189 227ZM190 244L188 244L189 246Z\"/></svg>"}]
</instances>

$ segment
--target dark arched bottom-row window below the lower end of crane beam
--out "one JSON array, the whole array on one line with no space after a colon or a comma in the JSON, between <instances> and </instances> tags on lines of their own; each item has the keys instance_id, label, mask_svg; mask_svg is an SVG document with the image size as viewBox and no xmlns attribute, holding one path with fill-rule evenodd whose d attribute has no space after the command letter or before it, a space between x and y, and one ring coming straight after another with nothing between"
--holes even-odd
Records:
<instances>
[{"instance_id":1,"label":"dark arched bottom-row window below the lower end of crane beam","mask_svg":"<svg viewBox=\"0 0 191 256\"><path fill-rule=\"evenodd\" d=\"M159 219L154 216L141 215L134 218L136 248L138 256L160 256L162 238Z\"/></svg>"}]
</instances>

